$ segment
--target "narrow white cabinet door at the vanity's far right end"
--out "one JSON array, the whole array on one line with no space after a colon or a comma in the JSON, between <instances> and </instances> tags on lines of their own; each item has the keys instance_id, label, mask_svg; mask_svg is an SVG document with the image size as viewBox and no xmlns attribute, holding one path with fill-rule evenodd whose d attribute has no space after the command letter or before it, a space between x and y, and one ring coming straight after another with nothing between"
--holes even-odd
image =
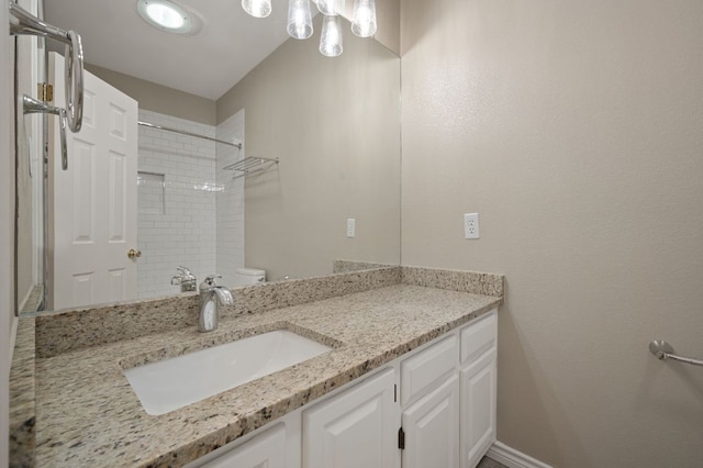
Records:
<instances>
[{"instance_id":1,"label":"narrow white cabinet door at the vanity's far right end","mask_svg":"<svg viewBox=\"0 0 703 468\"><path fill-rule=\"evenodd\" d=\"M495 348L461 369L461 466L472 468L495 442Z\"/></svg>"}]
</instances>

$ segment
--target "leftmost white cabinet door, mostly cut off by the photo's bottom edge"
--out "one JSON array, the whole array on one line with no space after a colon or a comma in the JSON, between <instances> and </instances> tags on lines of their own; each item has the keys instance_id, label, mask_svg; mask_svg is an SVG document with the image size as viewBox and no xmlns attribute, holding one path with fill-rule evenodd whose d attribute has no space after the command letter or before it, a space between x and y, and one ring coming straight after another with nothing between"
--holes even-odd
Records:
<instances>
[{"instance_id":1,"label":"leftmost white cabinet door, mostly cut off by the photo's bottom edge","mask_svg":"<svg viewBox=\"0 0 703 468\"><path fill-rule=\"evenodd\" d=\"M277 424L232 452L203 465L205 468L291 468L287 464L286 426Z\"/></svg>"}]
</instances>

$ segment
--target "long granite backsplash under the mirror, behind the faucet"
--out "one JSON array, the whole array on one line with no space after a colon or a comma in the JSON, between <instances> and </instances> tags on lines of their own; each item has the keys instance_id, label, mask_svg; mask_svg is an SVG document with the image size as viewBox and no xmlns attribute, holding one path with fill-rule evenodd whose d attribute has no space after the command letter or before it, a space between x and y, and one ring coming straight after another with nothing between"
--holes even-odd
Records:
<instances>
[{"instance_id":1,"label":"long granite backsplash under the mirror, behind the faucet","mask_svg":"<svg viewBox=\"0 0 703 468\"><path fill-rule=\"evenodd\" d=\"M400 267L293 279L232 289L234 305L220 317L349 294L400 282ZM52 357L88 346L181 330L198 323L198 293L130 303L58 311L36 316L38 357Z\"/></svg>"}]
</instances>

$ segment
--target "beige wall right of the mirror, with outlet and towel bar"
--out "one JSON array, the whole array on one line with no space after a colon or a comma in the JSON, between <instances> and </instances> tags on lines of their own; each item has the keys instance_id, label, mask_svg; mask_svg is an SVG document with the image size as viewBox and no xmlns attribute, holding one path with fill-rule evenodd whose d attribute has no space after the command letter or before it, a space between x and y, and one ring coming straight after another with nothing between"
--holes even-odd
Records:
<instances>
[{"instance_id":1,"label":"beige wall right of the mirror, with outlet and towel bar","mask_svg":"<svg viewBox=\"0 0 703 468\"><path fill-rule=\"evenodd\" d=\"M699 467L703 3L403 0L402 261L503 272L498 438ZM481 238L461 215L480 213Z\"/></svg>"}]
</instances>

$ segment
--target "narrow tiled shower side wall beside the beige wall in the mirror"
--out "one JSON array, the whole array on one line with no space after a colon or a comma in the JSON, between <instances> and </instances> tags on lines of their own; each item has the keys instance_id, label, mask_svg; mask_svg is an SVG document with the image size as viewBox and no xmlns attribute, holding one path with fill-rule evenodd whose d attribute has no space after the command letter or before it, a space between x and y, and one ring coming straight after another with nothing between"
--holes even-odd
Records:
<instances>
[{"instance_id":1,"label":"narrow tiled shower side wall beside the beige wall in the mirror","mask_svg":"<svg viewBox=\"0 0 703 468\"><path fill-rule=\"evenodd\" d=\"M244 158L244 110L217 125L217 140L239 142L242 149L216 144L216 182L223 190L217 199L217 272L222 285L234 285L234 274L244 267L244 177L233 179L223 167Z\"/></svg>"}]
</instances>

